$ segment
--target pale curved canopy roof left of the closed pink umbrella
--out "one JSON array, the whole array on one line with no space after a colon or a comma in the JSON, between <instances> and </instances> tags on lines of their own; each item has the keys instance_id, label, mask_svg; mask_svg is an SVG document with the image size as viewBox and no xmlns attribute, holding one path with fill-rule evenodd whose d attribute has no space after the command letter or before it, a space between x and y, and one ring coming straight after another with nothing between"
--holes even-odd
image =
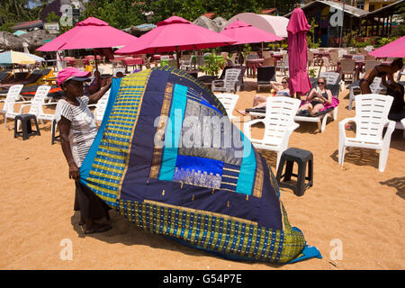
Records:
<instances>
[{"instance_id":1,"label":"pale curved canopy roof left of the closed pink umbrella","mask_svg":"<svg viewBox=\"0 0 405 288\"><path fill-rule=\"evenodd\" d=\"M234 23L235 21L242 21L244 23L250 24L258 29L268 31L279 37L286 38L287 34L287 25L288 18L283 16L271 16L267 14L254 14L254 13L242 13L237 14L230 18L225 24L225 27L229 24Z\"/></svg>"}]
</instances>

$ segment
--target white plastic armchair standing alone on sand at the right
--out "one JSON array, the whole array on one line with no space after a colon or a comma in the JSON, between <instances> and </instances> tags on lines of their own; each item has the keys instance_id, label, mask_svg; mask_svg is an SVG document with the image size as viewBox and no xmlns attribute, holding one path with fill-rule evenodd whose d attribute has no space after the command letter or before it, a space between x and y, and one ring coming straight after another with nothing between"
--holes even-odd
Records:
<instances>
[{"instance_id":1,"label":"white plastic armchair standing alone on sand at the right","mask_svg":"<svg viewBox=\"0 0 405 288\"><path fill-rule=\"evenodd\" d=\"M378 169L383 172L387 163L395 121L388 120L393 97L383 94L356 95L356 116L339 122L338 163L343 166L347 147L380 150ZM348 121L356 122L356 137L346 135ZM387 126L383 136L383 128Z\"/></svg>"}]
</instances>

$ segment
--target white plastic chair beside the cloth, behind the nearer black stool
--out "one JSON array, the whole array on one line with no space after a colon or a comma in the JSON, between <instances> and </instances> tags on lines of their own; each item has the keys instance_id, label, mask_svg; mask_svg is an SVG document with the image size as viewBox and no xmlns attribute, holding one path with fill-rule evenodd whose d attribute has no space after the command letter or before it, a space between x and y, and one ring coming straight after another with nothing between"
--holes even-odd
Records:
<instances>
[{"instance_id":1,"label":"white plastic chair beside the cloth, behind the nearer black stool","mask_svg":"<svg viewBox=\"0 0 405 288\"><path fill-rule=\"evenodd\" d=\"M276 170L284 150L288 148L288 141L293 130L300 126L293 120L300 103L299 99L291 97L267 97L265 118L248 121L243 125L243 132L256 148L277 152ZM258 122L265 124L264 137L252 139L250 127Z\"/></svg>"}]
</instances>

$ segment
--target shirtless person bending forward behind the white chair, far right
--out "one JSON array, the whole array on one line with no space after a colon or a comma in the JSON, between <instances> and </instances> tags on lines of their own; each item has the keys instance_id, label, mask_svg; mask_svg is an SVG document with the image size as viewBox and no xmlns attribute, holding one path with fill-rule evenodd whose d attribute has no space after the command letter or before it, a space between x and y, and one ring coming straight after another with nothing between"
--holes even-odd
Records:
<instances>
[{"instance_id":1,"label":"shirtless person bending forward behind the white chair, far right","mask_svg":"<svg viewBox=\"0 0 405 288\"><path fill-rule=\"evenodd\" d=\"M370 85L375 77L387 76L393 81L395 72L400 71L403 67L402 58L396 58L391 64L381 64L365 72L365 76L360 80L360 90L362 94L371 94Z\"/></svg>"}]
</instances>

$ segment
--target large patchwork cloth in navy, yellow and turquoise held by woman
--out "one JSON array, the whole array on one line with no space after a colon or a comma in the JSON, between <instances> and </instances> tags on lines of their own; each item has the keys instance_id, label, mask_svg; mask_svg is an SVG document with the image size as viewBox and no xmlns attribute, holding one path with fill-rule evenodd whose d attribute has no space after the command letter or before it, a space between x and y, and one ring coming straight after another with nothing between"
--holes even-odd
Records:
<instances>
[{"instance_id":1,"label":"large patchwork cloth in navy, yellow and turquoise held by woman","mask_svg":"<svg viewBox=\"0 0 405 288\"><path fill-rule=\"evenodd\" d=\"M174 67L114 79L80 175L139 228L186 245L238 260L320 257L290 225L266 159Z\"/></svg>"}]
</instances>

